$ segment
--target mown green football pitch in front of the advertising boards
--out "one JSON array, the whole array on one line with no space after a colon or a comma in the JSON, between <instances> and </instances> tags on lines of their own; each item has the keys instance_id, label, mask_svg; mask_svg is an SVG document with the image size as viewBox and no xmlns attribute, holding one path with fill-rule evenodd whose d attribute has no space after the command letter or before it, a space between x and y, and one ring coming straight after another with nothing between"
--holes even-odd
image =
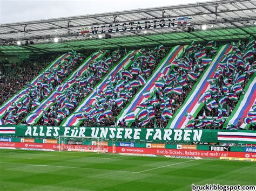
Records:
<instances>
[{"instance_id":1,"label":"mown green football pitch in front of the advertising boards","mask_svg":"<svg viewBox=\"0 0 256 191\"><path fill-rule=\"evenodd\" d=\"M255 162L0 150L0 190L191 190L255 185Z\"/></svg>"}]
</instances>

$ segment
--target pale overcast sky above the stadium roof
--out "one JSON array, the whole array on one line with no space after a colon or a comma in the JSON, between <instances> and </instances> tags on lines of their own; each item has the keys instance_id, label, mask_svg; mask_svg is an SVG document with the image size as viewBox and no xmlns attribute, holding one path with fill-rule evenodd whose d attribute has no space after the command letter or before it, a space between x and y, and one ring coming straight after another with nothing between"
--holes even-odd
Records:
<instances>
[{"instance_id":1,"label":"pale overcast sky above the stadium roof","mask_svg":"<svg viewBox=\"0 0 256 191\"><path fill-rule=\"evenodd\" d=\"M0 24L196 2L205 0L0 0Z\"/></svg>"}]
</instances>

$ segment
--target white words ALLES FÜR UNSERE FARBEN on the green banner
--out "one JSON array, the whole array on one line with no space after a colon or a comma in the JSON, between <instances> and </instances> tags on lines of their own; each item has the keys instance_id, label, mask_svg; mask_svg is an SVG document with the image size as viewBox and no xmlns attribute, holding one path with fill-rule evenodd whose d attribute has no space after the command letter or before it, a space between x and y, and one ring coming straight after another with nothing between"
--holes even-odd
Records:
<instances>
[{"instance_id":1,"label":"white words ALLES F\u00dcR UNSERE FARBEN on the green banner","mask_svg":"<svg viewBox=\"0 0 256 191\"><path fill-rule=\"evenodd\" d=\"M24 127L24 126L23 126ZM142 128L77 128L58 126L25 126L23 133L16 130L16 135L29 137L100 137L106 139L130 140L171 140L200 142L203 130L181 129L142 129Z\"/></svg>"}]
</instances>

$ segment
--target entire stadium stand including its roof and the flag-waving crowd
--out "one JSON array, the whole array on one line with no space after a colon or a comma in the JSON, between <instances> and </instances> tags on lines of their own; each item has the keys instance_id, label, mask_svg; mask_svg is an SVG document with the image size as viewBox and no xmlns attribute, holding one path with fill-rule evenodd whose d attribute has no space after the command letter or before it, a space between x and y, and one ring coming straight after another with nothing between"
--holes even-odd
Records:
<instances>
[{"instance_id":1,"label":"entire stadium stand including its roof and the flag-waving crowd","mask_svg":"<svg viewBox=\"0 0 256 191\"><path fill-rule=\"evenodd\" d=\"M1 24L0 133L255 130L255 24L246 0Z\"/></svg>"}]
</instances>

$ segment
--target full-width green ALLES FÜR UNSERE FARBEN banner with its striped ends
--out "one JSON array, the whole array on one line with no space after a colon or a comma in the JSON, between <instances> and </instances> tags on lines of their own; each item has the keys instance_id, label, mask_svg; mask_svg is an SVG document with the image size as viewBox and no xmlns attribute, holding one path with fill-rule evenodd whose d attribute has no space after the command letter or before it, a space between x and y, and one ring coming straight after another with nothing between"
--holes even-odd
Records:
<instances>
[{"instance_id":1,"label":"full-width green ALLES F\u00dcR UNSERE FARBEN banner with its striped ends","mask_svg":"<svg viewBox=\"0 0 256 191\"><path fill-rule=\"evenodd\" d=\"M255 144L256 135L250 130L208 130L208 129L149 129L149 128L114 128L114 127L76 127L76 126L25 126L25 125L2 125L2 128L9 128L10 131L0 131L1 136L16 137L43 137L55 138L59 136L76 137L100 137L106 139L122 139L131 142L132 140L160 141L160 142L206 142L206 143L250 143ZM223 139L223 132L230 135L244 136L249 138L229 136ZM187 148L183 148L187 149ZM230 148L212 147L212 151L226 151ZM248 149L252 150L252 149ZM246 148L245 148L246 152Z\"/></svg>"}]
</instances>

